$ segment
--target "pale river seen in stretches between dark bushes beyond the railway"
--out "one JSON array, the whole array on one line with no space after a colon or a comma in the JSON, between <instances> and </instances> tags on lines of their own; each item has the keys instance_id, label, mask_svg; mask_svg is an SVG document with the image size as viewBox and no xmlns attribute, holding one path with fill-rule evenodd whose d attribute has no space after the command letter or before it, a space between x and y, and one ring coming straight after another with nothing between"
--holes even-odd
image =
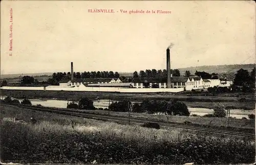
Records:
<instances>
[{"instance_id":1,"label":"pale river seen in stretches between dark bushes beyond the railway","mask_svg":"<svg viewBox=\"0 0 256 165\"><path fill-rule=\"evenodd\" d=\"M6 96L3 96L3 99ZM2 99L2 97L1 97ZM16 98L12 98L16 99ZM23 99L17 99L19 102L21 102ZM51 100L51 99L30 99L31 103L33 105L40 104L42 106L49 106L49 107L59 107L59 108L66 108L67 107L67 101L65 100ZM94 100L93 105L96 108L108 108L109 104L112 102L115 102L116 100ZM76 102L78 103L78 102ZM132 102L134 104L135 102ZM213 109L209 108L198 108L198 107L188 107L188 111L190 112L190 115L198 115L198 116L204 116L206 114L212 114L214 113ZM254 110L244 110L244 109L231 109L230 110L230 117L235 117L237 119L242 119L243 117L248 119L248 115L255 114Z\"/></svg>"}]
</instances>

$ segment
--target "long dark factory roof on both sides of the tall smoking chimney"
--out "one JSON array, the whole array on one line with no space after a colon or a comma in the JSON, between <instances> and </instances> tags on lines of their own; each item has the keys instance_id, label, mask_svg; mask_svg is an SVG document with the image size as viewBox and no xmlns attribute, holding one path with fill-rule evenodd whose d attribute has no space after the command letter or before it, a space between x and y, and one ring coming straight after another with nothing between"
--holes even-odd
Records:
<instances>
[{"instance_id":1,"label":"long dark factory roof on both sides of the tall smoking chimney","mask_svg":"<svg viewBox=\"0 0 256 165\"><path fill-rule=\"evenodd\" d=\"M146 82L146 83L155 83L155 82L166 82L166 77L138 77L133 78L132 82ZM171 82L186 82L187 77L170 77Z\"/></svg>"}]
</instances>

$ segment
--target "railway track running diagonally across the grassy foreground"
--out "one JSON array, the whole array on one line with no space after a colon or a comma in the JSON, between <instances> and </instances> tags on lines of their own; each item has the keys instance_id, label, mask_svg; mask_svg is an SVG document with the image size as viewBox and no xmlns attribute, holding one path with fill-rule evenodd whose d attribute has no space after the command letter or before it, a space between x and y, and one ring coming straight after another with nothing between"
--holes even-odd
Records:
<instances>
[{"instance_id":1,"label":"railway track running diagonally across the grassy foreground","mask_svg":"<svg viewBox=\"0 0 256 165\"><path fill-rule=\"evenodd\" d=\"M54 109L54 108L46 108L46 107L10 105L10 104L6 104L6 103L2 103L2 104L8 105L8 106L14 106L14 107L18 106L18 107L22 107L22 108L28 108L28 109L32 109L32 110L35 110L35 111L57 113L57 114L77 116L77 117L83 117L83 118L129 122L129 118L126 118L126 117L115 117L115 116L108 116L108 115L95 115L95 114L89 114L89 113L84 113L84 112L77 112L77 111L74 111L74 110L71 110L71 109ZM145 119L145 118L130 118L130 122L133 122L133 123L154 122L154 123L158 123L160 126L176 127L176 128L183 128L183 129L192 129L192 130L203 131L203 132L211 132L211 133L237 135L237 136L244 136L244 137L249 137L249 138L255 139L255 130L230 129L230 128L224 128L224 127L212 127L212 126L205 126L205 125L174 123L174 122L166 122L166 121L159 121L159 120Z\"/></svg>"}]
</instances>

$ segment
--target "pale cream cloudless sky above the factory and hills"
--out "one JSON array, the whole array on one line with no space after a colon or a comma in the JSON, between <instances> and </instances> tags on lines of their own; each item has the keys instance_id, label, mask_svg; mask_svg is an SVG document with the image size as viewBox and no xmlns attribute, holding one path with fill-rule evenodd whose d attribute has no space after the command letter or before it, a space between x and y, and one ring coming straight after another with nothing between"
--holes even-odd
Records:
<instances>
[{"instance_id":1,"label":"pale cream cloudless sky above the factory and hills","mask_svg":"<svg viewBox=\"0 0 256 165\"><path fill-rule=\"evenodd\" d=\"M172 69L253 64L255 15L253 1L1 1L1 74L166 69L170 43Z\"/></svg>"}]
</instances>

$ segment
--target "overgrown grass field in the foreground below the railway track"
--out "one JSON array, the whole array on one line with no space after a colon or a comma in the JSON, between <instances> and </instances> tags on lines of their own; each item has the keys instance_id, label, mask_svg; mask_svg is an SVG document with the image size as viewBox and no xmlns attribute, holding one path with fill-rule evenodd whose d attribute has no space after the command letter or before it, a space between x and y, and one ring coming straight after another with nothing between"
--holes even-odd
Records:
<instances>
[{"instance_id":1,"label":"overgrown grass field in the foreground below the railway track","mask_svg":"<svg viewBox=\"0 0 256 165\"><path fill-rule=\"evenodd\" d=\"M19 163L249 163L255 142L184 129L150 129L1 107L1 160ZM16 117L25 123L2 119ZM29 123L30 118L36 124Z\"/></svg>"}]
</instances>

